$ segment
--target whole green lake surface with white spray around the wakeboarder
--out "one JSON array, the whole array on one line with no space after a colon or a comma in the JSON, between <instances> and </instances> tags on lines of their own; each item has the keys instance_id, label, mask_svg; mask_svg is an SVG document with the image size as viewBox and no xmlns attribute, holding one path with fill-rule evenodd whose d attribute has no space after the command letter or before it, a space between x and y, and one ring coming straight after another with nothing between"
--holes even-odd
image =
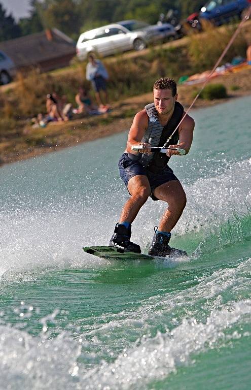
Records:
<instances>
[{"instance_id":1,"label":"whole green lake surface with white spray around the wakeboarder","mask_svg":"<svg viewBox=\"0 0 251 390\"><path fill-rule=\"evenodd\" d=\"M0 389L249 389L251 97L192 113L170 166L189 258L107 261L126 134L1 167ZM164 203L132 239L147 252Z\"/></svg>"}]
</instances>

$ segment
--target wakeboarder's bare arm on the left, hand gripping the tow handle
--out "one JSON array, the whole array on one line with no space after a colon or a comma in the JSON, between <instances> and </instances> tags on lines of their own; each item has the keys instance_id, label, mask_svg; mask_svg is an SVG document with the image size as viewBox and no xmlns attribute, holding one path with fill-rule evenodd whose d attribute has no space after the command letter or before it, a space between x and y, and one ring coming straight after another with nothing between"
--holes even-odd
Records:
<instances>
[{"instance_id":1,"label":"wakeboarder's bare arm on the left, hand gripping the tow handle","mask_svg":"<svg viewBox=\"0 0 251 390\"><path fill-rule=\"evenodd\" d=\"M135 150L131 150L132 146L138 145L143 138L146 129L148 127L148 114L146 110L142 110L138 112L133 119L129 134L128 134L128 139L127 139L127 145L126 145L126 151L127 153L135 154L138 155L139 152ZM148 146L150 144L147 143L142 143L141 145ZM146 149L140 150L141 153L146 153Z\"/></svg>"}]
</instances>

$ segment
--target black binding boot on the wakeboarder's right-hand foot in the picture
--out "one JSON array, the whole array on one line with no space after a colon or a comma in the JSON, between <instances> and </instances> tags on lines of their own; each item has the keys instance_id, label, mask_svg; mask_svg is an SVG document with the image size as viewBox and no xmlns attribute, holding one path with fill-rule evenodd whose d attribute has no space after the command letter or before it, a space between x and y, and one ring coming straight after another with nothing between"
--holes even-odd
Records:
<instances>
[{"instance_id":1,"label":"black binding boot on the wakeboarder's right-hand foot in the picture","mask_svg":"<svg viewBox=\"0 0 251 390\"><path fill-rule=\"evenodd\" d=\"M154 228L154 237L148 254L152 256L187 256L185 250L171 248L168 244L171 238L171 233L159 232L158 226Z\"/></svg>"}]
</instances>

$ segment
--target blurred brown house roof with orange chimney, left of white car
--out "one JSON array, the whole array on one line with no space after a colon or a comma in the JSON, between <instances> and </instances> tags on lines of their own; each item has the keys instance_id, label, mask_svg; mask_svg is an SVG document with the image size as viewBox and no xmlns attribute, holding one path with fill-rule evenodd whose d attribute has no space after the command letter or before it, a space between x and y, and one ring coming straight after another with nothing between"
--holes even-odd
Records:
<instances>
[{"instance_id":1,"label":"blurred brown house roof with orange chimney, left of white car","mask_svg":"<svg viewBox=\"0 0 251 390\"><path fill-rule=\"evenodd\" d=\"M76 53L75 42L57 28L37 32L21 38L0 42L0 50L5 52L16 67L29 67L47 60Z\"/></svg>"}]
</instances>

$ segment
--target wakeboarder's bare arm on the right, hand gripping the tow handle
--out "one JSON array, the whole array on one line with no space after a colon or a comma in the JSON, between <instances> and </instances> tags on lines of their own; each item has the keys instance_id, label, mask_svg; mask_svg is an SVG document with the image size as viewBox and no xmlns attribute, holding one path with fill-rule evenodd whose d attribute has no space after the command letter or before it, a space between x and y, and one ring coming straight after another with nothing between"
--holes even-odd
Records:
<instances>
[{"instance_id":1,"label":"wakeboarder's bare arm on the right, hand gripping the tow handle","mask_svg":"<svg viewBox=\"0 0 251 390\"><path fill-rule=\"evenodd\" d=\"M186 118L180 125L179 133L180 133L180 142L178 145L169 145L169 148L175 149L185 149L186 154L188 154L192 141L193 141L193 132L194 132L194 120L191 116L186 115ZM173 154L180 154L177 150L168 150L167 155L171 156Z\"/></svg>"}]
</instances>

